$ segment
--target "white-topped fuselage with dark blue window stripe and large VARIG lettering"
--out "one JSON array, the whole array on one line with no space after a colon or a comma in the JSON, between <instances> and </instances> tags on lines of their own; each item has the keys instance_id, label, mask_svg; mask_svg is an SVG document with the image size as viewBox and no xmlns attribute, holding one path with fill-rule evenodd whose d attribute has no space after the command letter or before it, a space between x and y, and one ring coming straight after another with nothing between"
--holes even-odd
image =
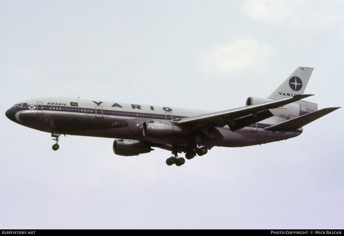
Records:
<instances>
[{"instance_id":1,"label":"white-topped fuselage with dark blue window stripe and large VARIG lettering","mask_svg":"<svg viewBox=\"0 0 344 236\"><path fill-rule=\"evenodd\" d=\"M184 117L207 113L210 111L171 108L170 106L73 98L39 98L14 105L6 112L6 115L8 117L12 115L12 118L9 118L14 122L49 133L133 139L187 146L190 137L185 134L162 138L145 137L142 134L142 123L145 121L173 123ZM201 137L198 138L200 142L197 143L208 143L208 146L239 147L279 141L302 133L302 128L295 132L273 132L264 129L285 120L287 120L286 117L272 116L235 132L232 132L227 125L215 127L218 132L213 135L213 138L202 139Z\"/></svg>"}]
</instances>

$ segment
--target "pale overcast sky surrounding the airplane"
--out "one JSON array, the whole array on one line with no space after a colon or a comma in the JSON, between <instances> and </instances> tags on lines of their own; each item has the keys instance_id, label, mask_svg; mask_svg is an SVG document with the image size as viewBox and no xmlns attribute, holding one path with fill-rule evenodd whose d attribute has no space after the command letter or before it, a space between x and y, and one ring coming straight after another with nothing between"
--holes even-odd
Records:
<instances>
[{"instance_id":1,"label":"pale overcast sky surrounding the airplane","mask_svg":"<svg viewBox=\"0 0 344 236\"><path fill-rule=\"evenodd\" d=\"M297 67L342 106L342 1L1 1L0 228L343 228L344 108L286 141L121 157L114 139L5 116L71 97L222 111L268 97Z\"/></svg>"}]
</instances>

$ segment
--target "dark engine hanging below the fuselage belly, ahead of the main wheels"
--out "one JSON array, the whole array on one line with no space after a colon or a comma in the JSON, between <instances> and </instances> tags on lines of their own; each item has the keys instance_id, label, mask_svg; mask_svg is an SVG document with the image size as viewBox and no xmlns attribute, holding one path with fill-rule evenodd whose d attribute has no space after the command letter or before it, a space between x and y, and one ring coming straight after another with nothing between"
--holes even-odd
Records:
<instances>
[{"instance_id":1,"label":"dark engine hanging below the fuselage belly, ahead of the main wheels","mask_svg":"<svg viewBox=\"0 0 344 236\"><path fill-rule=\"evenodd\" d=\"M116 139L113 149L114 153L120 156L138 156L154 150L149 145L140 143L140 141L129 139Z\"/></svg>"}]
</instances>

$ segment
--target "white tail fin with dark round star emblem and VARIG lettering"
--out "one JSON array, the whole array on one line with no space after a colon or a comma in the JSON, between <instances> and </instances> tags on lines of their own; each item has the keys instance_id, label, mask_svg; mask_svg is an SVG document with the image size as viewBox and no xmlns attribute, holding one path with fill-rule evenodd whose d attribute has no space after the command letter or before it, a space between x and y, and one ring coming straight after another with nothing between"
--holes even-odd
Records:
<instances>
[{"instance_id":1,"label":"white tail fin with dark round star emblem and VARIG lettering","mask_svg":"<svg viewBox=\"0 0 344 236\"><path fill-rule=\"evenodd\" d=\"M298 67L268 98L276 100L303 94L313 69L312 67Z\"/></svg>"}]
</instances>

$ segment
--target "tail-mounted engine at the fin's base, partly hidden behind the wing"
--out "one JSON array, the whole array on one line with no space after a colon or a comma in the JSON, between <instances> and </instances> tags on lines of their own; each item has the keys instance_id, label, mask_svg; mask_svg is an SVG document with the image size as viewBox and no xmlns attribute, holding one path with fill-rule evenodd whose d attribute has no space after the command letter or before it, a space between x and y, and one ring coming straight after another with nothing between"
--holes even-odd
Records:
<instances>
[{"instance_id":1,"label":"tail-mounted engine at the fin's base, partly hidden behind the wing","mask_svg":"<svg viewBox=\"0 0 344 236\"><path fill-rule=\"evenodd\" d=\"M246 100L246 106L268 101L272 101L272 99L249 97ZM269 111L275 116L283 117L286 119L293 119L295 117L313 112L313 109L316 107L314 104L317 105L316 103L312 102L296 101L294 103L289 103L275 109L269 109Z\"/></svg>"}]
</instances>

